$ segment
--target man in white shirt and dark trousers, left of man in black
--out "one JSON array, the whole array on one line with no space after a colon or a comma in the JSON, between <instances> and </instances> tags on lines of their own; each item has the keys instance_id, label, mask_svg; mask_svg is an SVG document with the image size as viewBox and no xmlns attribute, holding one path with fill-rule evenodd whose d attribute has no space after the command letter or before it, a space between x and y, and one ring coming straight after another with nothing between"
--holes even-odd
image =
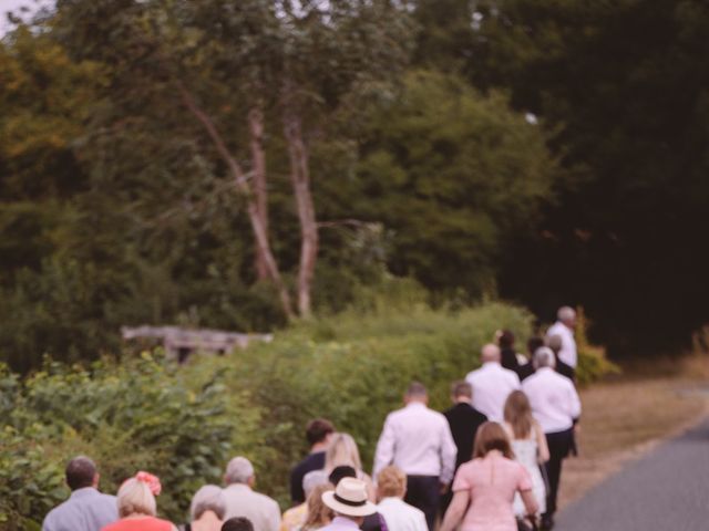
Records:
<instances>
[{"instance_id":1,"label":"man in white shirt and dark trousers, left of man in black","mask_svg":"<svg viewBox=\"0 0 709 531\"><path fill-rule=\"evenodd\" d=\"M425 514L432 531L441 492L453 479L458 449L445 417L429 409L425 387L414 382L404 395L405 407L390 413L384 421L373 476L389 465L407 475L407 503Z\"/></svg>"}]
</instances>

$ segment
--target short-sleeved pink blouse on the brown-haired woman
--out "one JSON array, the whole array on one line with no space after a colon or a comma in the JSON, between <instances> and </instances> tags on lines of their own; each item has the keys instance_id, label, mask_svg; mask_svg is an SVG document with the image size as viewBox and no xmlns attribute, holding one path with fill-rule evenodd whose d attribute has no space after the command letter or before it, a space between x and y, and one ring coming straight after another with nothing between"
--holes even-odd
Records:
<instances>
[{"instance_id":1,"label":"short-sleeved pink blouse on the brown-haired woman","mask_svg":"<svg viewBox=\"0 0 709 531\"><path fill-rule=\"evenodd\" d=\"M525 468L497 450L461 465L453 492L467 490L471 499L461 531L516 531L514 493L531 488L532 479Z\"/></svg>"}]
</instances>

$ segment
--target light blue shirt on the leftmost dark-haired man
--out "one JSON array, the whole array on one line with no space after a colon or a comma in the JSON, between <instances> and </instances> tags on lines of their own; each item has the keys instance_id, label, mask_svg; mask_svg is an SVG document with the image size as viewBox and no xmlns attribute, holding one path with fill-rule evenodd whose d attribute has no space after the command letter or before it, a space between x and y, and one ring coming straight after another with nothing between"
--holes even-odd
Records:
<instances>
[{"instance_id":1,"label":"light blue shirt on the leftmost dark-haired man","mask_svg":"<svg viewBox=\"0 0 709 531\"><path fill-rule=\"evenodd\" d=\"M117 519L115 496L84 487L74 490L65 502L49 511L42 522L42 531L101 531Z\"/></svg>"}]
</instances>

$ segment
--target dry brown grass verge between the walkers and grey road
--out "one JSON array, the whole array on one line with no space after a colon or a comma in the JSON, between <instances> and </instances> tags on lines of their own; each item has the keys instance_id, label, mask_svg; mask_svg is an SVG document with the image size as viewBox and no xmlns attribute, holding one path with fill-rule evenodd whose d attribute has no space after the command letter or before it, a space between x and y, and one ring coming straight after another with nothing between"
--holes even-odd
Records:
<instances>
[{"instance_id":1,"label":"dry brown grass verge between the walkers and grey road","mask_svg":"<svg viewBox=\"0 0 709 531\"><path fill-rule=\"evenodd\" d=\"M564 462L559 507L709 415L709 394L686 378L619 381L582 391L579 457Z\"/></svg>"}]
</instances>

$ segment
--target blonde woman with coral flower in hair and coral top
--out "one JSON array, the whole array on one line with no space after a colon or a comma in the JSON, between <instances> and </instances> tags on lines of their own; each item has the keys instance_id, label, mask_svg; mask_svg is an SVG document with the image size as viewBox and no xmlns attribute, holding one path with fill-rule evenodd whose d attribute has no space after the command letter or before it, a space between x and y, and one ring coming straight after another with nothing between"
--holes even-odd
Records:
<instances>
[{"instance_id":1,"label":"blonde woman with coral flower in hair and coral top","mask_svg":"<svg viewBox=\"0 0 709 531\"><path fill-rule=\"evenodd\" d=\"M101 531L177 531L172 522L156 518L155 497L161 490L160 479L148 472L126 479L116 497L121 520Z\"/></svg>"}]
</instances>

